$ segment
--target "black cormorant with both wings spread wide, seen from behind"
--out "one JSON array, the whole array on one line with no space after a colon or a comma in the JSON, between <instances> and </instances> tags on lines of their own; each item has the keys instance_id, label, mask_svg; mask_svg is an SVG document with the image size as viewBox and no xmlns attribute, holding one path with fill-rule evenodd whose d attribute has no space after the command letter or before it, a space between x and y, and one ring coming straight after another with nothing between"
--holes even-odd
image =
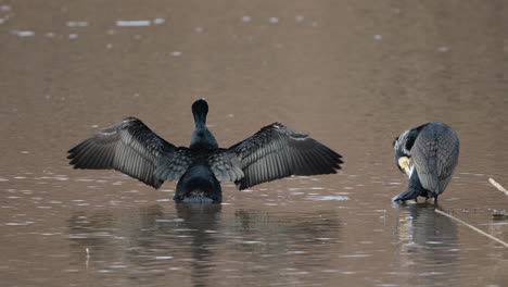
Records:
<instances>
[{"instance_id":1,"label":"black cormorant with both wings spread wide, seen from behind","mask_svg":"<svg viewBox=\"0 0 508 287\"><path fill-rule=\"evenodd\" d=\"M141 121L127 117L71 149L75 169L114 169L154 188L178 180L176 201L220 202L219 182L244 189L290 175L332 174L341 155L308 135L279 123L263 127L228 149L206 127L208 104L192 104L195 128L190 147L175 147Z\"/></svg>"}]
</instances>

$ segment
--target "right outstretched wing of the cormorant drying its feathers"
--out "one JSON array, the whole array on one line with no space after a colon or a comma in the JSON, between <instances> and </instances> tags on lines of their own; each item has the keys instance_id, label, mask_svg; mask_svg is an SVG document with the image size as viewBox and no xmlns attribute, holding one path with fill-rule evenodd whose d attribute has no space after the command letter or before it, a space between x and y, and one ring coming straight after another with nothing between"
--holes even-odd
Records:
<instances>
[{"instance_id":1,"label":"right outstretched wing of the cormorant drying its feathers","mask_svg":"<svg viewBox=\"0 0 508 287\"><path fill-rule=\"evenodd\" d=\"M219 180L229 179L244 189L290 175L336 173L341 158L308 135L275 123L224 150L221 170L216 164L212 164L212 170Z\"/></svg>"}]
</instances>

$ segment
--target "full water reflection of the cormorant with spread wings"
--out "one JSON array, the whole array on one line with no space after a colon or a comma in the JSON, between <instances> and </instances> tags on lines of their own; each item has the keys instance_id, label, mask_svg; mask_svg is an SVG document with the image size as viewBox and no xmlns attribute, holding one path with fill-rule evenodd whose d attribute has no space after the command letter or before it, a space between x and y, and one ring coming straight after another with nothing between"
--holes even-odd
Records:
<instances>
[{"instance_id":1,"label":"full water reflection of the cormorant with spread wings","mask_svg":"<svg viewBox=\"0 0 508 287\"><path fill-rule=\"evenodd\" d=\"M252 282L244 270L276 277L287 274L280 280L291 284L293 276L326 269L329 262L322 261L323 255L330 248L338 250L340 222L331 211L274 215L237 209L224 214L220 204L175 207L75 213L68 220L75 264L88 261L84 252L88 248L89 272L123 270L137 285L167 276L190 278L193 286L225 276L233 284ZM274 276L263 276L267 282L259 284L269 284Z\"/></svg>"}]
</instances>

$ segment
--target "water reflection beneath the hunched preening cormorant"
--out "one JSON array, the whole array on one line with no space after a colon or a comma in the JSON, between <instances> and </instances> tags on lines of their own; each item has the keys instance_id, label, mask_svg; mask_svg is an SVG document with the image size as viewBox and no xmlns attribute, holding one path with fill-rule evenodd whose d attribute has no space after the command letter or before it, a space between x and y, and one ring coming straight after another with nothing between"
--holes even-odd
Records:
<instances>
[{"instance_id":1,"label":"water reflection beneath the hunched preening cormorant","mask_svg":"<svg viewBox=\"0 0 508 287\"><path fill-rule=\"evenodd\" d=\"M407 275L412 285L450 284L460 255L455 223L434 212L434 204L398 207L395 261L401 275Z\"/></svg>"}]
</instances>

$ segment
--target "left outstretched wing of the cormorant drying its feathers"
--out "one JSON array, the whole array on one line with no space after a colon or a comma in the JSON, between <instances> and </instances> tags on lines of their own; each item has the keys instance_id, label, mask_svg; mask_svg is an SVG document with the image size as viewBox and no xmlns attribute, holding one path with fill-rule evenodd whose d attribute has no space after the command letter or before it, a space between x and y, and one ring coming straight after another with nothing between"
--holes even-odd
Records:
<instances>
[{"instance_id":1,"label":"left outstretched wing of the cormorant drying its feathers","mask_svg":"<svg viewBox=\"0 0 508 287\"><path fill-rule=\"evenodd\" d=\"M127 117L72 148L67 158L74 169L113 169L158 188L164 178L154 171L175 149L138 118Z\"/></svg>"}]
</instances>

